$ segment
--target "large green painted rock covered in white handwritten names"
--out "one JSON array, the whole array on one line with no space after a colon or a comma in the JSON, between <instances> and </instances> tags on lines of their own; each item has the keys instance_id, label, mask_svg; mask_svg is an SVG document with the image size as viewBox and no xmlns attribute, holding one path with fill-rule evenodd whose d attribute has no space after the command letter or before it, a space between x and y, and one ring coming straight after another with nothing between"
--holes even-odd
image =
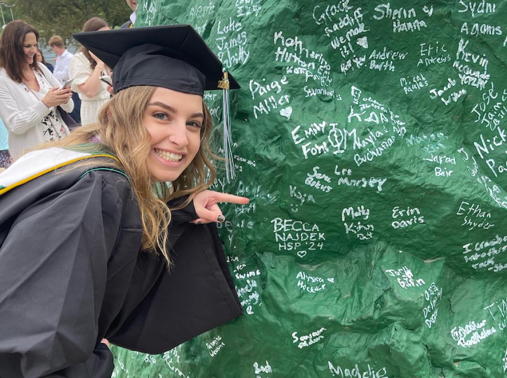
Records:
<instances>
[{"instance_id":1,"label":"large green painted rock covered in white handwritten names","mask_svg":"<svg viewBox=\"0 0 507 378\"><path fill-rule=\"evenodd\" d=\"M251 199L219 225L245 315L116 348L114 376L503 377L506 19L500 0L140 1L136 26L193 25L242 85L237 178L214 189Z\"/></svg>"}]
</instances>

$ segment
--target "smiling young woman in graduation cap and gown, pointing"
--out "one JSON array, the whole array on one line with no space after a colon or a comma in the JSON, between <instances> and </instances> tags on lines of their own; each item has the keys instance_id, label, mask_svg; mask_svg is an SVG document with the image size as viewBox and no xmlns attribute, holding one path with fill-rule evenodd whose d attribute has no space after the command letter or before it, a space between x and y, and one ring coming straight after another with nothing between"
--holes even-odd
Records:
<instances>
[{"instance_id":1,"label":"smiling young woman in graduation cap and gown, pointing","mask_svg":"<svg viewBox=\"0 0 507 378\"><path fill-rule=\"evenodd\" d=\"M6 376L111 377L107 340L162 353L242 313L215 222L219 202L248 199L207 190L203 93L222 64L188 25L76 38L114 67L116 94L0 174Z\"/></svg>"}]
</instances>

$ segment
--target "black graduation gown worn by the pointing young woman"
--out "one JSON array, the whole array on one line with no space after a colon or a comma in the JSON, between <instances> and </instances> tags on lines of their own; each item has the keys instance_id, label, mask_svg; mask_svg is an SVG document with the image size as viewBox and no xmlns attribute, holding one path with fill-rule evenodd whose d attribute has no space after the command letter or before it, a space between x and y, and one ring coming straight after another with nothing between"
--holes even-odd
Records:
<instances>
[{"instance_id":1,"label":"black graduation gown worn by the pointing young woman","mask_svg":"<svg viewBox=\"0 0 507 378\"><path fill-rule=\"evenodd\" d=\"M162 353L242 314L216 226L189 223L192 204L172 212L168 272L140 251L127 179L82 174L49 173L0 196L1 378L110 377L102 338Z\"/></svg>"}]
</instances>

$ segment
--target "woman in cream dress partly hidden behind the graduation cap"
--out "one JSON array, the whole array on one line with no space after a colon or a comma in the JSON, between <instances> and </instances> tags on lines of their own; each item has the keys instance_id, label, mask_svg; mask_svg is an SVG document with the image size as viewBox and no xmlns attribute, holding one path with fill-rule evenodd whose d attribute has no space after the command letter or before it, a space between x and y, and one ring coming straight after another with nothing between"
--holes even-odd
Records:
<instances>
[{"instance_id":1,"label":"woman in cream dress partly hidden behind the graduation cap","mask_svg":"<svg viewBox=\"0 0 507 378\"><path fill-rule=\"evenodd\" d=\"M110 30L109 25L98 17L85 22L83 31ZM111 98L111 75L109 68L84 46L71 60L69 78L74 81L71 89L81 99L81 123L96 123L100 108Z\"/></svg>"}]
</instances>

